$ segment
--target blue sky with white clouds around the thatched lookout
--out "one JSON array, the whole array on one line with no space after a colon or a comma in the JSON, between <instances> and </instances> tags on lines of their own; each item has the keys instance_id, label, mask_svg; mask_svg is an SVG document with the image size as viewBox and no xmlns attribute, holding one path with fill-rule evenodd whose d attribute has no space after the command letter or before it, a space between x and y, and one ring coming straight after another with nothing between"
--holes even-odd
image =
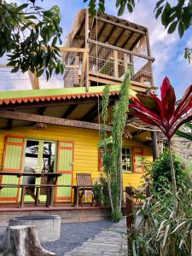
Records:
<instances>
[{"instance_id":1,"label":"blue sky with white clouds around the thatched lookout","mask_svg":"<svg viewBox=\"0 0 192 256\"><path fill-rule=\"evenodd\" d=\"M183 58L184 48L192 48L192 27L182 39L178 37L177 32L167 34L160 19L154 18L155 2L154 0L140 0L134 12L132 14L125 12L122 18L148 27L152 56L155 59L153 65L155 86L160 87L163 79L167 76L175 87L177 97L180 98L189 84L192 84L192 64L189 65ZM80 9L87 6L84 0L44 0L43 3L41 0L37 0L36 4L44 9L49 9L53 5L59 6L63 41L73 26L75 15ZM117 16L114 0L106 0L106 13Z\"/></svg>"}]
</instances>

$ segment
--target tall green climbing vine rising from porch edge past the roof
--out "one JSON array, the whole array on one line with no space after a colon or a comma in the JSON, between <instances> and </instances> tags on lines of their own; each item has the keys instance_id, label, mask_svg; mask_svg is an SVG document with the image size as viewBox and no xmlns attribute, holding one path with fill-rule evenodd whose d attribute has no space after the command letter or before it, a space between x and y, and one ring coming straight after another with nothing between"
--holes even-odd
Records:
<instances>
[{"instance_id":1,"label":"tall green climbing vine rising from porch edge past the roof","mask_svg":"<svg viewBox=\"0 0 192 256\"><path fill-rule=\"evenodd\" d=\"M121 196L122 196L122 170L120 164L120 152L122 148L122 136L125 128L126 113L129 107L129 88L131 72L125 76L121 84L119 101L113 108L112 120L112 143L107 144L106 124L108 120L108 85L103 90L102 119L103 119L103 166L108 181L108 195L114 221L122 217Z\"/></svg>"}]
</instances>

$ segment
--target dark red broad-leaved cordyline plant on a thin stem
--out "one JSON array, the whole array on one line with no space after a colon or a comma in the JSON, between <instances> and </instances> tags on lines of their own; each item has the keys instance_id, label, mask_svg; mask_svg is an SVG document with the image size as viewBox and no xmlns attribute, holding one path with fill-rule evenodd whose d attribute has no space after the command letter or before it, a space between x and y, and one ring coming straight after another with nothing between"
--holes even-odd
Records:
<instances>
[{"instance_id":1,"label":"dark red broad-leaved cordyline plant on a thin stem","mask_svg":"<svg viewBox=\"0 0 192 256\"><path fill-rule=\"evenodd\" d=\"M160 99L151 93L149 96L137 94L130 103L131 113L149 125L157 126L166 136L170 154L172 186L177 194L177 183L172 160L171 142L177 129L192 120L192 84L185 91L183 98L177 104L175 91L168 78L165 78L160 88Z\"/></svg>"}]
</instances>

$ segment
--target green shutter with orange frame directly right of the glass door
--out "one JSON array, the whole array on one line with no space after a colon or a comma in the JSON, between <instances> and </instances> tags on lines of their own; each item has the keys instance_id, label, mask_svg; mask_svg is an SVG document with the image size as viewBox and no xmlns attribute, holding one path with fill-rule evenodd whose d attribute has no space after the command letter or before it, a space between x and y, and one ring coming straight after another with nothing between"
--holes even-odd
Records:
<instances>
[{"instance_id":1,"label":"green shutter with orange frame directly right of the glass door","mask_svg":"<svg viewBox=\"0 0 192 256\"><path fill-rule=\"evenodd\" d=\"M59 185L73 185L73 143L61 141L58 143L57 170L62 176L58 178ZM57 188L55 193L56 202L71 202L72 188Z\"/></svg>"}]
</instances>

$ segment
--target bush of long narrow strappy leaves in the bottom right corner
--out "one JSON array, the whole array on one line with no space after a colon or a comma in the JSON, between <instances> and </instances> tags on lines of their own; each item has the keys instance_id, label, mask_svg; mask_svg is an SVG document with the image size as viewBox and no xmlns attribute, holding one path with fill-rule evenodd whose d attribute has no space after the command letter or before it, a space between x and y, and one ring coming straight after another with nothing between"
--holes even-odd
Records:
<instances>
[{"instance_id":1,"label":"bush of long narrow strappy leaves in the bottom right corner","mask_svg":"<svg viewBox=\"0 0 192 256\"><path fill-rule=\"evenodd\" d=\"M166 187L169 187L168 183ZM143 201L142 207L139 206L135 219L139 217L140 222L137 221L137 225L129 230L128 236L134 246L134 255L188 256L192 253L191 183L180 184L177 198L176 214L172 212L175 200L172 189L164 188L163 194L152 189L151 197Z\"/></svg>"}]
</instances>

